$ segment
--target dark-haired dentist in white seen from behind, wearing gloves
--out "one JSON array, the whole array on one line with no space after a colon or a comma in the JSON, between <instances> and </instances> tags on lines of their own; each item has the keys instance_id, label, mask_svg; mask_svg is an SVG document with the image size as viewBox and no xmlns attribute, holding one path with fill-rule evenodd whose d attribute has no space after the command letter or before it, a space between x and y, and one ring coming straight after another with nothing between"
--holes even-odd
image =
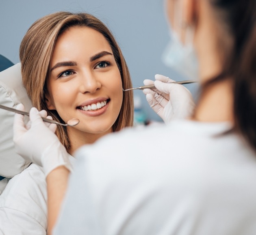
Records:
<instances>
[{"instance_id":1,"label":"dark-haired dentist in white seen from behind, wearing gloves","mask_svg":"<svg viewBox=\"0 0 256 235\"><path fill-rule=\"evenodd\" d=\"M256 2L166 0L166 9L175 45L166 59L192 71L197 54L194 110L184 89L157 75L146 98L168 125L81 147L70 175L65 148L38 111L28 130L16 115L17 152L51 169L50 234L256 233ZM185 119L171 120L184 109Z\"/></svg>"}]
</instances>

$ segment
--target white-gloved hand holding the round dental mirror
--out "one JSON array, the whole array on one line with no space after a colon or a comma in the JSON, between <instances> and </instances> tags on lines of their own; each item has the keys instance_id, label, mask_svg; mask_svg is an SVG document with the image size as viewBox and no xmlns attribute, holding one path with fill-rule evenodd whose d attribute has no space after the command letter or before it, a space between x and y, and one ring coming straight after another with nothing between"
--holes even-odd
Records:
<instances>
[{"instance_id":1,"label":"white-gloved hand holding the round dental mirror","mask_svg":"<svg viewBox=\"0 0 256 235\"><path fill-rule=\"evenodd\" d=\"M23 105L17 109L24 110ZM13 141L15 150L24 159L43 167L46 176L56 167L64 165L71 171L69 154L54 134L56 124L43 122L46 111L30 109L30 122L24 124L24 115L15 113L13 124ZM49 118L49 116L47 117Z\"/></svg>"}]
</instances>

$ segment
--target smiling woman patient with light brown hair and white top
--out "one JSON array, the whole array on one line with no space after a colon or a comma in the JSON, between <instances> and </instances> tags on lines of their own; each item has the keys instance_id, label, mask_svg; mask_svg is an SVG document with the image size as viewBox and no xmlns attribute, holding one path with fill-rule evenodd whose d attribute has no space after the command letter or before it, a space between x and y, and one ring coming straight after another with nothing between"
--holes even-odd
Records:
<instances>
[{"instance_id":1,"label":"smiling woman patient with light brown hair and white top","mask_svg":"<svg viewBox=\"0 0 256 235\"><path fill-rule=\"evenodd\" d=\"M87 13L58 12L37 20L20 45L22 79L33 106L46 110L56 135L73 155L82 145L133 124L128 67L115 38ZM70 156L71 161L74 161ZM7 200L8 197L8 200ZM0 197L0 231L46 234L45 175L31 164L10 180Z\"/></svg>"}]
</instances>

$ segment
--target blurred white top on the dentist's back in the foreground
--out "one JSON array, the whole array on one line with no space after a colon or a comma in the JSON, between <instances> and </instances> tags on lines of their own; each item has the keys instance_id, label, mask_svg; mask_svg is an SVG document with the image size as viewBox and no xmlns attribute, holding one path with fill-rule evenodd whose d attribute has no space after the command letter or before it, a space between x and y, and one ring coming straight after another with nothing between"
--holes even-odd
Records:
<instances>
[{"instance_id":1,"label":"blurred white top on the dentist's back in the foreground","mask_svg":"<svg viewBox=\"0 0 256 235\"><path fill-rule=\"evenodd\" d=\"M256 234L256 154L217 136L229 128L174 121L82 147L54 235Z\"/></svg>"}]
</instances>

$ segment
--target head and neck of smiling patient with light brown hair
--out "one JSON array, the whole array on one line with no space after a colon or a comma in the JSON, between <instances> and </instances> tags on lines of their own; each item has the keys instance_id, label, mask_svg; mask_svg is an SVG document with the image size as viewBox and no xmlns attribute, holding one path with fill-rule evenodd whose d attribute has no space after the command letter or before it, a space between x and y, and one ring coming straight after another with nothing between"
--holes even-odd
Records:
<instances>
[{"instance_id":1,"label":"head and neck of smiling patient with light brown hair","mask_svg":"<svg viewBox=\"0 0 256 235\"><path fill-rule=\"evenodd\" d=\"M131 87L128 67L99 19L59 12L37 20L22 40L20 61L24 86L37 109L59 122L72 115L80 120L76 128L57 127L56 135L69 153L132 126L132 93L122 92ZM104 110L95 110L95 105Z\"/></svg>"}]
</instances>

